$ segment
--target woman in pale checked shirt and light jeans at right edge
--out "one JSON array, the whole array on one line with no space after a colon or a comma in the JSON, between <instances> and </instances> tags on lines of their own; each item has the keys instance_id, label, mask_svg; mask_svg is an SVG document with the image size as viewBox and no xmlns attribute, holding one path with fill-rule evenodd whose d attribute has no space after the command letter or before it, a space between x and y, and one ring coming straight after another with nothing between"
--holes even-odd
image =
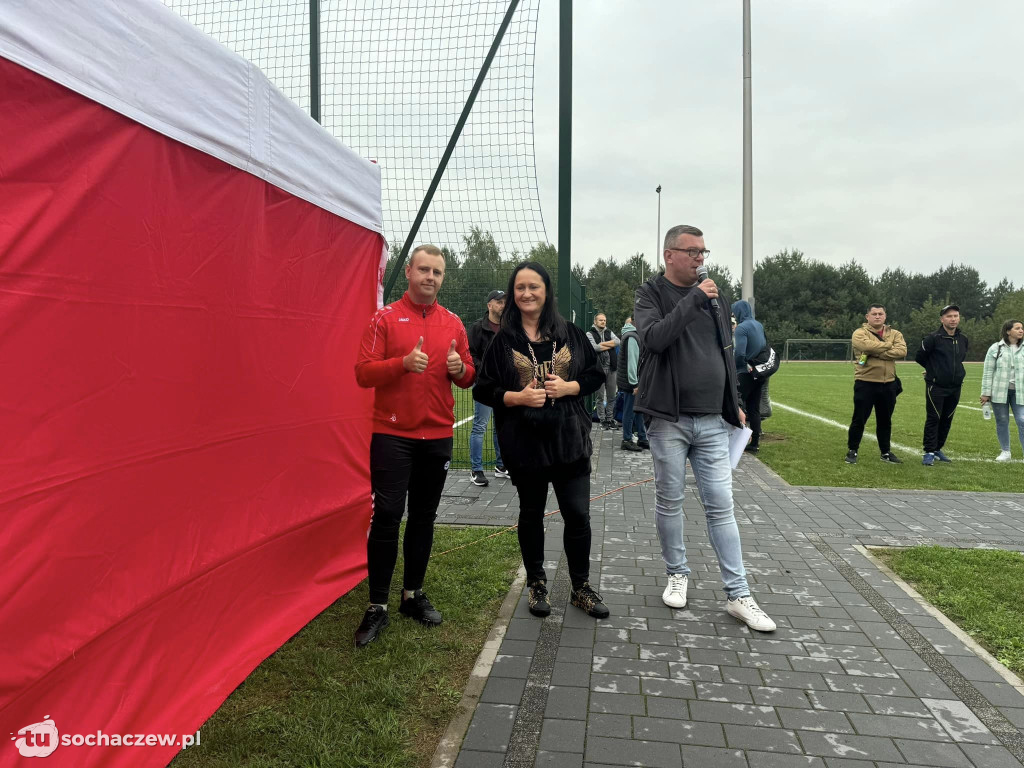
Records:
<instances>
[{"instance_id":1,"label":"woman in pale checked shirt and light jeans at right edge","mask_svg":"<svg viewBox=\"0 0 1024 768\"><path fill-rule=\"evenodd\" d=\"M981 402L991 403L995 414L995 436L999 440L997 462L1010 461L1010 412L1017 422L1017 439L1024 450L1024 397L1017 390L1024 389L1024 324L1007 321L1002 324L1002 338L985 353L985 369L981 375Z\"/></svg>"}]
</instances>

